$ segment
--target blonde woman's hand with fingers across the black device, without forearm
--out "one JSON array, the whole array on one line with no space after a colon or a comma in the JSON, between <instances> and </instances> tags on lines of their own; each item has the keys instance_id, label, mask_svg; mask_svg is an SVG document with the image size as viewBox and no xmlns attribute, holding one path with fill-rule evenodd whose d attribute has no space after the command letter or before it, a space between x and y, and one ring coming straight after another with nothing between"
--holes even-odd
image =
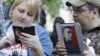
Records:
<instances>
[{"instance_id":1,"label":"blonde woman's hand with fingers across the black device, without forearm","mask_svg":"<svg viewBox=\"0 0 100 56\"><path fill-rule=\"evenodd\" d=\"M25 44L27 47L37 49L37 48L42 48L39 38L37 36L33 36L27 33L21 32L19 35L19 40Z\"/></svg>"}]
</instances>

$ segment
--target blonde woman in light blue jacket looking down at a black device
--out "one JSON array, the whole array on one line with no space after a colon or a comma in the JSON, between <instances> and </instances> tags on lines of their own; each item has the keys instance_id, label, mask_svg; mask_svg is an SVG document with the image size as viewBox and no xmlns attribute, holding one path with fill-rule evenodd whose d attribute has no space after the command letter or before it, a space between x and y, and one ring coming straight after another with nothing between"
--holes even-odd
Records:
<instances>
[{"instance_id":1,"label":"blonde woman in light blue jacket looking down at a black device","mask_svg":"<svg viewBox=\"0 0 100 56\"><path fill-rule=\"evenodd\" d=\"M6 36L0 41L0 49L8 46L11 46L11 48L3 49L1 52L9 52L7 53L8 55L51 56L53 46L49 39L49 34L37 24L39 21L39 9L38 1L36 0L14 1L9 12L12 25L8 28ZM33 36L24 32L17 34L22 43L22 48L20 48L19 46L21 45L15 41L12 26L35 26L36 35Z\"/></svg>"}]
</instances>

